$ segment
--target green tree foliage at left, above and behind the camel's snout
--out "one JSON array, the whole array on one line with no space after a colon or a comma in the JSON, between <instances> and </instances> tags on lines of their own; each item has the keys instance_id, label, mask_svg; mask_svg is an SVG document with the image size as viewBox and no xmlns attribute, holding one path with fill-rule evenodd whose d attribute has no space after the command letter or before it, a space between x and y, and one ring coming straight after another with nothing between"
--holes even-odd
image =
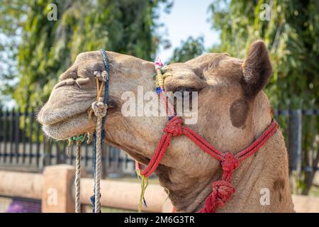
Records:
<instances>
[{"instance_id":1,"label":"green tree foliage at left, above and behind the camel's snout","mask_svg":"<svg viewBox=\"0 0 319 227\"><path fill-rule=\"evenodd\" d=\"M58 76L84 51L105 48L135 55L145 60L155 58L159 43L156 22L159 4L167 0L98 1L6 1L1 23L21 29L18 45L19 83L13 94L19 106L43 104ZM10 3L10 4L9 4ZM50 5L51 4L51 5ZM57 6L57 20L52 12ZM14 13L11 13L10 12ZM12 86L11 86L12 87Z\"/></svg>"}]
</instances>

